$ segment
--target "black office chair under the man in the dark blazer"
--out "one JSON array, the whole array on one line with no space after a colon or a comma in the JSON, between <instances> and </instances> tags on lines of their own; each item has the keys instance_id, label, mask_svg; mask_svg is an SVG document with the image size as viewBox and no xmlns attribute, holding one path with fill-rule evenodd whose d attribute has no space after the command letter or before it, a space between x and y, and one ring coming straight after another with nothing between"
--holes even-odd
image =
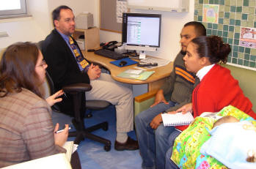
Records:
<instances>
[{"instance_id":1,"label":"black office chair under the man in the dark blazer","mask_svg":"<svg viewBox=\"0 0 256 169\"><path fill-rule=\"evenodd\" d=\"M54 82L51 79L51 76L46 72L46 79L48 81L48 86L50 89L50 93L54 94ZM86 108L90 110L101 110L110 105L109 102L104 100L87 100L85 98L85 92L92 89L87 83L74 83L68 86L64 86L63 91L65 93L69 93L73 97L73 112L74 112L74 119L72 120L73 125L76 128L75 132L69 132L69 137L76 137L74 143L79 144L81 140L84 138L89 138L91 140L98 141L100 143L105 144L104 149L109 151L111 149L111 141L106 140L105 138L100 138L97 135L93 135L90 132L95 131L96 129L102 128L103 130L109 129L109 124L107 121L104 121L100 124L96 124L92 127L86 128L84 125L84 113ZM59 108L56 105L53 106L53 109L59 111Z\"/></svg>"}]
</instances>

